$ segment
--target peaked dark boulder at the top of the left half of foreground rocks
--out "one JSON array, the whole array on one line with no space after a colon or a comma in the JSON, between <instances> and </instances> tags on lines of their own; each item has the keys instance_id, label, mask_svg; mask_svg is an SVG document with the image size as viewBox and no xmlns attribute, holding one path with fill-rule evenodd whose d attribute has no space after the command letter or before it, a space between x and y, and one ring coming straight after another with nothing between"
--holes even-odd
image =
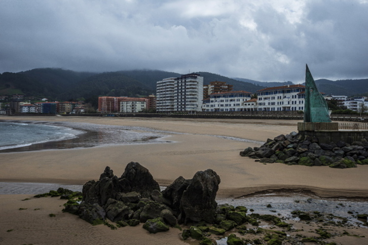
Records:
<instances>
[{"instance_id":1,"label":"peaked dark boulder at the top of the left half of foreground rocks","mask_svg":"<svg viewBox=\"0 0 368 245\"><path fill-rule=\"evenodd\" d=\"M118 183L120 192L136 191L144 197L149 197L153 190L160 190L150 171L133 161L127 165Z\"/></svg>"}]
</instances>

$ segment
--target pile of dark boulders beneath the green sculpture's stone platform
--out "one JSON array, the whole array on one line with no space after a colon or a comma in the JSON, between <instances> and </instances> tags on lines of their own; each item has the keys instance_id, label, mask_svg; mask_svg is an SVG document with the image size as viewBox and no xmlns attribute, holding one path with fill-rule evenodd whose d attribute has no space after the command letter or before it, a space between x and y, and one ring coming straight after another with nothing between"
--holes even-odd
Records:
<instances>
[{"instance_id":1,"label":"pile of dark boulders beneath the green sculpture's stone platform","mask_svg":"<svg viewBox=\"0 0 368 245\"><path fill-rule=\"evenodd\" d=\"M264 163L356 168L357 165L368 165L368 141L362 139L351 144L343 141L326 144L319 143L317 137L291 132L267 139L261 147L248 147L240 155Z\"/></svg>"}]
</instances>

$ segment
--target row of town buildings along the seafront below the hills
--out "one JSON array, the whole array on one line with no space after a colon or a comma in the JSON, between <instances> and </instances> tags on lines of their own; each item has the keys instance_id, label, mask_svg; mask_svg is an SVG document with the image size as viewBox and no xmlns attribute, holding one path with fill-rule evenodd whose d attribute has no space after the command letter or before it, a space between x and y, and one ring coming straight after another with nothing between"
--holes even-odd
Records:
<instances>
[{"instance_id":1,"label":"row of town buildings along the seafront below the hills","mask_svg":"<svg viewBox=\"0 0 368 245\"><path fill-rule=\"evenodd\" d=\"M301 84L269 87L251 93L234 91L233 85L225 81L210 81L204 85L198 73L164 78L156 84L156 95L139 98L99 96L98 108L91 108L83 100L50 101L20 94L3 95L0 96L0 114L304 111L305 86ZM352 112L368 111L368 97L323 96Z\"/></svg>"}]
</instances>

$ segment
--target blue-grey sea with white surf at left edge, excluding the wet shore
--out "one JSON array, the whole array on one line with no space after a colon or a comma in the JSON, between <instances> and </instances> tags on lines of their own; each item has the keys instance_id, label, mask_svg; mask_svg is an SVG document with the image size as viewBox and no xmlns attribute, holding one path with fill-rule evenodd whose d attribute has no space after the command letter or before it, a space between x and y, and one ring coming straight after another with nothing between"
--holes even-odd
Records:
<instances>
[{"instance_id":1,"label":"blue-grey sea with white surf at left edge, excluding the wet shore","mask_svg":"<svg viewBox=\"0 0 368 245\"><path fill-rule=\"evenodd\" d=\"M82 133L83 131L67 127L0 122L0 150L72 139Z\"/></svg>"}]
</instances>

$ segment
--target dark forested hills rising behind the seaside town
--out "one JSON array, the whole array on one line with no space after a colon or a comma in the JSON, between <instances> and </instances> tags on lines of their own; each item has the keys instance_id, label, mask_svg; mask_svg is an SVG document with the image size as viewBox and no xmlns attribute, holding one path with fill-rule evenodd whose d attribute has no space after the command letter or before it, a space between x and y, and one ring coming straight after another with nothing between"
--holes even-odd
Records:
<instances>
[{"instance_id":1,"label":"dark forested hills rising behind the seaside town","mask_svg":"<svg viewBox=\"0 0 368 245\"><path fill-rule=\"evenodd\" d=\"M266 87L292 84L262 83L246 78L229 78L205 71L195 72L204 77L204 85L211 81L225 81L233 89L251 93ZM140 97L156 94L156 82L181 74L160 70L123 70L117 72L76 72L59 68L39 68L18 73L0 74L0 95L24 94L27 97L46 97L50 100L77 100L96 105L98 96ZM261 86L262 85L262 86ZM316 80L319 91L329 95L353 96L368 93L368 79Z\"/></svg>"}]
</instances>

